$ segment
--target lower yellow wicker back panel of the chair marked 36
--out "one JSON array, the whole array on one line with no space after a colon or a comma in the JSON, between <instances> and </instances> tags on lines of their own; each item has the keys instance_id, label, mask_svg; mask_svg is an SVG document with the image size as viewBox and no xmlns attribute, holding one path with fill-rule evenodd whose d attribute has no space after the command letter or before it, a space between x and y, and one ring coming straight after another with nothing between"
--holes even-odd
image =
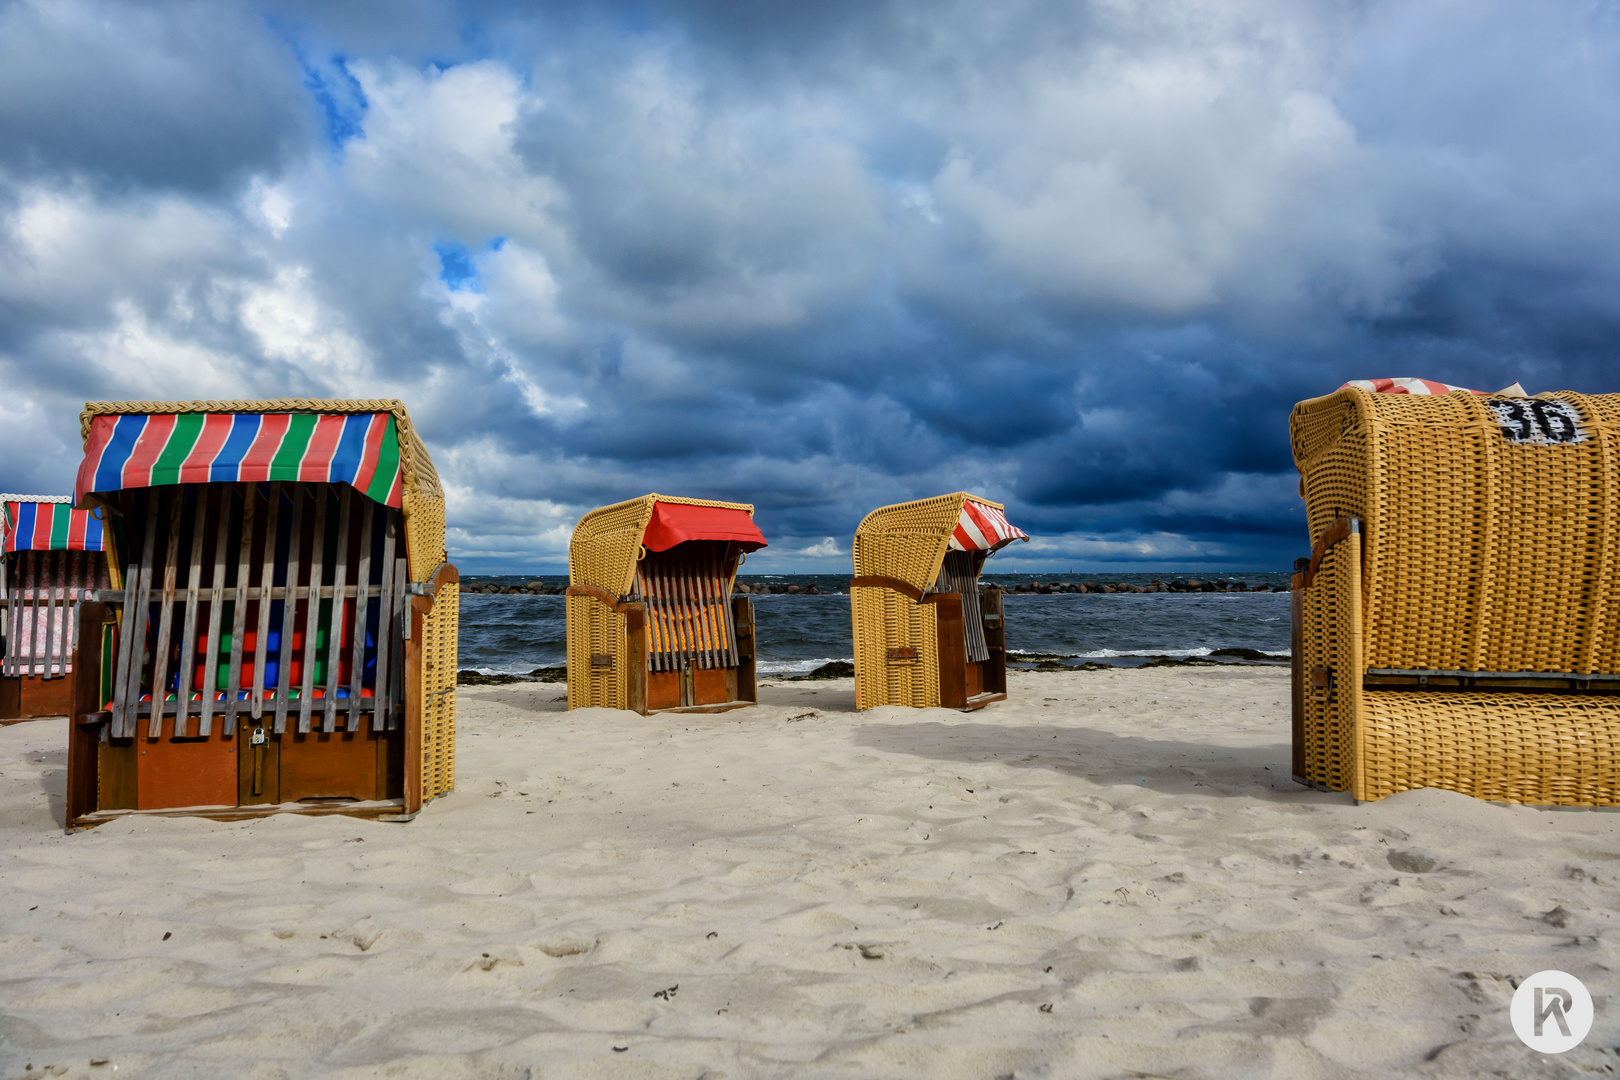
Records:
<instances>
[{"instance_id":1,"label":"lower yellow wicker back panel of the chair marked 36","mask_svg":"<svg viewBox=\"0 0 1620 1080\"><path fill-rule=\"evenodd\" d=\"M1361 798L1442 787L1508 803L1620 803L1620 699L1369 690L1364 711Z\"/></svg>"}]
</instances>

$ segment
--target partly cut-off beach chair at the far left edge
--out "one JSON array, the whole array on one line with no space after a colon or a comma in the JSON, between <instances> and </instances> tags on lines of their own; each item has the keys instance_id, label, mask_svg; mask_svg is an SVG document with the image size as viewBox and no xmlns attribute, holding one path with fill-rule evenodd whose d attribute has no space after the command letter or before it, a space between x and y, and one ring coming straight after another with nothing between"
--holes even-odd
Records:
<instances>
[{"instance_id":1,"label":"partly cut-off beach chair at the far left edge","mask_svg":"<svg viewBox=\"0 0 1620 1080\"><path fill-rule=\"evenodd\" d=\"M75 604L110 588L102 526L70 495L0 495L0 721L73 709Z\"/></svg>"}]
</instances>

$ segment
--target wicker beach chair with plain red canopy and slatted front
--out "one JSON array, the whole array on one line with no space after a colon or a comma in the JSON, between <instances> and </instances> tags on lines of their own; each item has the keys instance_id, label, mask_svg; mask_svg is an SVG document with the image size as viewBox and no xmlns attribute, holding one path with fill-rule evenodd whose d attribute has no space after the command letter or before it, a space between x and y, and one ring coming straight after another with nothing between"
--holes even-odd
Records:
<instances>
[{"instance_id":1,"label":"wicker beach chair with plain red canopy and slatted front","mask_svg":"<svg viewBox=\"0 0 1620 1080\"><path fill-rule=\"evenodd\" d=\"M642 495L569 541L569 708L726 712L755 704L753 604L731 596L765 547L753 507Z\"/></svg>"}]
</instances>

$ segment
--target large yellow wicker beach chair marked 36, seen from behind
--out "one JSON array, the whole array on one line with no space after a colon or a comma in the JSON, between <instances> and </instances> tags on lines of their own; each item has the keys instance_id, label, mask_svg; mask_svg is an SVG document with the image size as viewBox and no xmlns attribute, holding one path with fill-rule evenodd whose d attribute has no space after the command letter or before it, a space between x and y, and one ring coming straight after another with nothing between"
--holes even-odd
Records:
<instances>
[{"instance_id":1,"label":"large yellow wicker beach chair marked 36, seen from behind","mask_svg":"<svg viewBox=\"0 0 1620 1080\"><path fill-rule=\"evenodd\" d=\"M1294 779L1615 805L1620 395L1388 382L1293 411Z\"/></svg>"}]
</instances>

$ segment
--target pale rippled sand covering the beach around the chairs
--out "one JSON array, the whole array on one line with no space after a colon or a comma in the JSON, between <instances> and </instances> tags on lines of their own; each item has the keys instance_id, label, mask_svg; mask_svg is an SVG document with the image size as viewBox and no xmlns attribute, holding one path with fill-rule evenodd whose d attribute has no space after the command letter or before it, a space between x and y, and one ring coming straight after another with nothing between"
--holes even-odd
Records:
<instances>
[{"instance_id":1,"label":"pale rippled sand covering the beach around the chairs","mask_svg":"<svg viewBox=\"0 0 1620 1080\"><path fill-rule=\"evenodd\" d=\"M561 693L463 688L458 790L411 824L63 836L65 724L0 730L0 1074L1620 1067L1620 816L1299 789L1286 672L1017 674L969 716ZM1542 968L1597 1002L1557 1059L1507 1018Z\"/></svg>"}]
</instances>

